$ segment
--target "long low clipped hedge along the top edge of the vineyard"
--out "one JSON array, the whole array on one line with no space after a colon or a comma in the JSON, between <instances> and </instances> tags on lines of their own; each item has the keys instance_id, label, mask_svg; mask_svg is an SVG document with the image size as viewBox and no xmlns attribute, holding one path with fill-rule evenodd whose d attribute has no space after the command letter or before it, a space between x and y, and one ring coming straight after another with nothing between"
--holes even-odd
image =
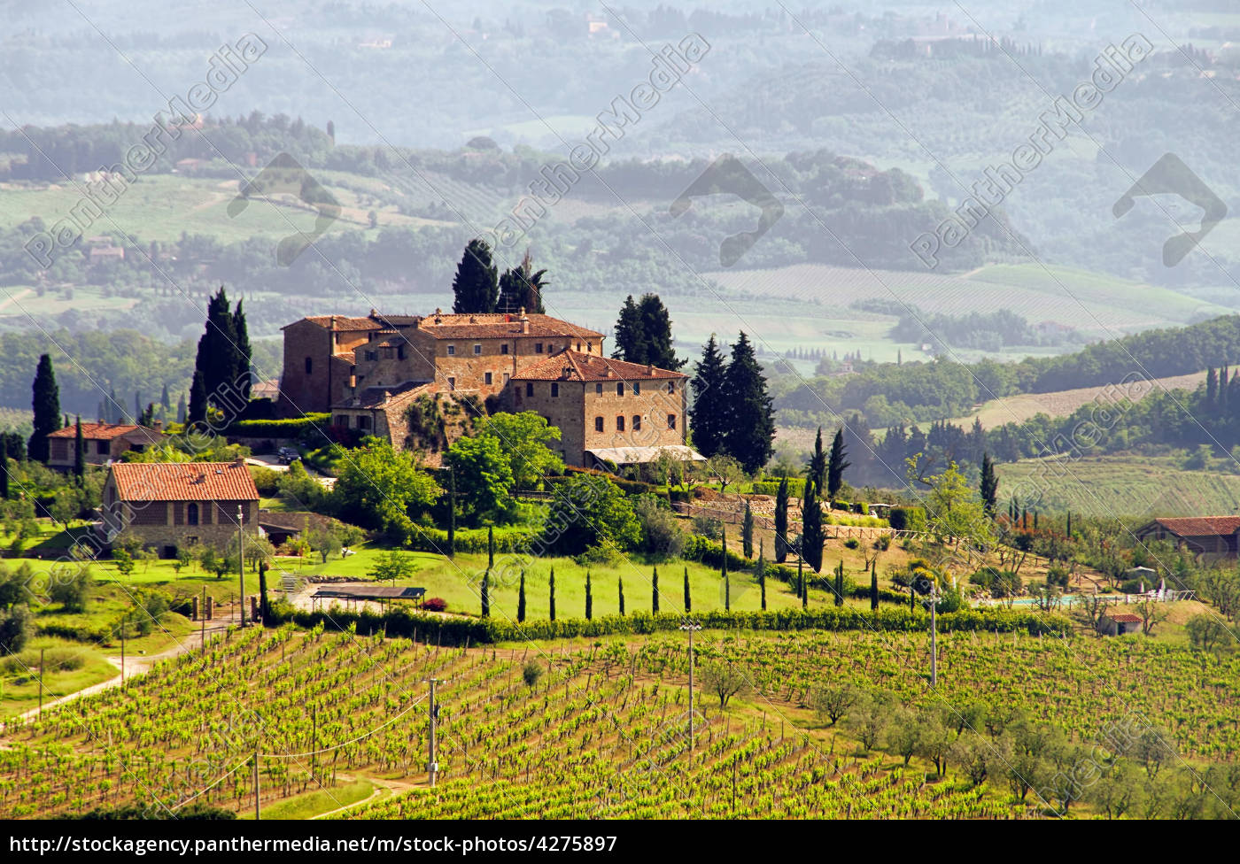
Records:
<instances>
[{"instance_id":1,"label":"long low clipped hedge along the top edge of the vineyard","mask_svg":"<svg viewBox=\"0 0 1240 864\"><path fill-rule=\"evenodd\" d=\"M671 612L650 615L604 615L593 620L560 619L558 621L526 621L516 624L496 619L448 619L396 610L387 616L371 612L325 612L272 610L274 624L293 621L299 627L324 624L330 630L346 630L356 625L362 635L383 632L387 636L417 638L419 642L463 646L492 642L523 642L527 640L595 637L610 635L641 635L675 631L684 616ZM693 619L708 630L873 630L884 632L918 632L930 627L924 611L909 614L904 609L859 610L851 606L823 606L812 610L779 610L774 612L701 612ZM1039 615L1013 610L961 610L939 616L940 632L960 631L1023 631L1033 636L1066 635L1071 622L1059 615Z\"/></svg>"}]
</instances>

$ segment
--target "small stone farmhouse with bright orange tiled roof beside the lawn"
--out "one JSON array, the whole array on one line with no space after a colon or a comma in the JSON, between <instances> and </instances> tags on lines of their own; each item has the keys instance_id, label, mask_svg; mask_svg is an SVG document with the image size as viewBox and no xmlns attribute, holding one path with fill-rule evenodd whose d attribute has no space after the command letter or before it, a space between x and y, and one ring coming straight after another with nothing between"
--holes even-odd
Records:
<instances>
[{"instance_id":1,"label":"small stone farmhouse with bright orange tiled roof beside the lawn","mask_svg":"<svg viewBox=\"0 0 1240 864\"><path fill-rule=\"evenodd\" d=\"M133 532L164 558L180 547L223 548L237 538L238 508L258 532L258 490L246 462L115 462L103 486L104 543Z\"/></svg>"}]
</instances>

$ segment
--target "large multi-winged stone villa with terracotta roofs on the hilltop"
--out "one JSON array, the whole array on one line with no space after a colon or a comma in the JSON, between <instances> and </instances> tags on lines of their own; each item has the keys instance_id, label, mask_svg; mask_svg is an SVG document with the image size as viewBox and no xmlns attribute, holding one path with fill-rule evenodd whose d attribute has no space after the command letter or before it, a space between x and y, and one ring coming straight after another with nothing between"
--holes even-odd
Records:
<instances>
[{"instance_id":1,"label":"large multi-winged stone villa with terracotta roofs on the hilltop","mask_svg":"<svg viewBox=\"0 0 1240 864\"><path fill-rule=\"evenodd\" d=\"M560 429L569 465L651 461L665 446L698 457L684 443L687 377L608 359L603 340L525 310L306 317L284 327L280 413L330 410L334 426L403 449L428 446L424 420L440 407L456 415L533 410ZM467 425L438 418L444 440L432 450Z\"/></svg>"}]
</instances>

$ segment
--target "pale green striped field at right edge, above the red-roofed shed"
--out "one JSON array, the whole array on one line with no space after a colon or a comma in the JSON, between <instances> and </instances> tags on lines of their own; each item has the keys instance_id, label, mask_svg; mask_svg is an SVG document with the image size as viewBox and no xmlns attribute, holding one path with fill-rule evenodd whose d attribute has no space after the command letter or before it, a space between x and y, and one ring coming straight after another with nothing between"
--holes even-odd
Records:
<instances>
[{"instance_id":1,"label":"pale green striped field at right edge, above the red-roofed shed","mask_svg":"<svg viewBox=\"0 0 1240 864\"><path fill-rule=\"evenodd\" d=\"M994 467L1001 501L1016 493L1042 512L1151 519L1240 513L1240 474L1184 471L1166 457L1027 459Z\"/></svg>"}]
</instances>

